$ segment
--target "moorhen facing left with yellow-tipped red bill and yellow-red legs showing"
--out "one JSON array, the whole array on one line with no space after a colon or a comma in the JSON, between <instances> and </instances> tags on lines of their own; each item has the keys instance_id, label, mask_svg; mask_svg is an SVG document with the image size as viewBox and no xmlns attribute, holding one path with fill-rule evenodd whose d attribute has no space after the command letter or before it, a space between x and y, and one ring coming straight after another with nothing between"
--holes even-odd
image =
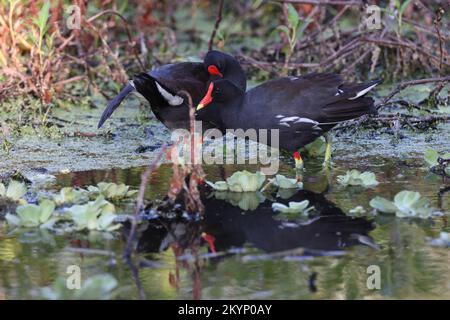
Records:
<instances>
[{"instance_id":1,"label":"moorhen facing left with yellow-tipped red bill and yellow-red legs showing","mask_svg":"<svg viewBox=\"0 0 450 320\"><path fill-rule=\"evenodd\" d=\"M279 129L279 147L294 152L298 168L299 148L339 122L376 113L373 99L364 95L379 83L345 84L340 75L312 73L268 81L244 94L230 81L216 80L197 106L197 118L219 123L222 131ZM207 105L214 112L203 113ZM326 158L329 153L328 145Z\"/></svg>"}]
</instances>

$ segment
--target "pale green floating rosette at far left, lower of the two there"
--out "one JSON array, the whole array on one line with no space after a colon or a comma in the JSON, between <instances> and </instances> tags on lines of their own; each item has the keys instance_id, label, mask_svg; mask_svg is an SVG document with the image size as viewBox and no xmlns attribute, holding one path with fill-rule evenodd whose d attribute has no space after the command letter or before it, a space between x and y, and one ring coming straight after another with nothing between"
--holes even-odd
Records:
<instances>
[{"instance_id":1,"label":"pale green floating rosette at far left, lower of the two there","mask_svg":"<svg viewBox=\"0 0 450 320\"><path fill-rule=\"evenodd\" d=\"M5 216L9 224L18 227L51 227L56 221L51 219L55 211L55 203L51 200L42 200L39 205L26 204L18 206L17 215L7 214Z\"/></svg>"}]
</instances>

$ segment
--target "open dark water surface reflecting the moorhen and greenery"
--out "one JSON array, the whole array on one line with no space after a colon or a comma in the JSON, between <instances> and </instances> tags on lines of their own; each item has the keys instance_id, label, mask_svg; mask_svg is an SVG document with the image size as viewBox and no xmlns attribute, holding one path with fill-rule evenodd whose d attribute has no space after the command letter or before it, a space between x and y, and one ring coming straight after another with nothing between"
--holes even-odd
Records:
<instances>
[{"instance_id":1,"label":"open dark water surface reflecting the moorhen and greenery","mask_svg":"<svg viewBox=\"0 0 450 320\"><path fill-rule=\"evenodd\" d=\"M149 220L140 226L133 260L139 266L139 281L122 260L126 227L111 238L45 230L0 233L0 294L6 299L39 298L40 288L66 276L67 266L75 264L83 277L112 274L119 282L115 298L125 299L138 298L137 282L148 299L450 298L450 251L428 243L450 230L445 217L411 220L348 213L357 205L370 211L368 203L376 195L392 199L404 189L419 191L448 213L450 194L439 195L448 182L428 173L414 158L369 156L352 163L338 155L331 171L306 172L305 190L289 200L276 199L284 203L308 199L318 214L301 223L275 219L270 199L245 195L248 198L223 201L211 194L204 195L202 221ZM373 171L380 184L373 189L338 186L336 176L354 167ZM205 171L209 180L216 181L237 169L242 167L214 166ZM138 187L142 170L75 172L60 175L57 183L86 186L113 181ZM289 165L282 171L292 175ZM171 173L170 165L153 173L147 199L165 195ZM255 202L261 202L255 210L244 211L238 205L256 206ZM379 290L367 288L371 265L381 271Z\"/></svg>"}]
</instances>

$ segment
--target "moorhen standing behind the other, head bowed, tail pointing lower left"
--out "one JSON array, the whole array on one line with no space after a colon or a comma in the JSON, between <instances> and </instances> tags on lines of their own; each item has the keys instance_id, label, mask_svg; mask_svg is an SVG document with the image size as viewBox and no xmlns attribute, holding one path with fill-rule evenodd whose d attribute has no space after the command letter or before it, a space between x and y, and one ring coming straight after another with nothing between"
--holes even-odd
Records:
<instances>
[{"instance_id":1,"label":"moorhen standing behind the other, head bowed, tail pointing lower left","mask_svg":"<svg viewBox=\"0 0 450 320\"><path fill-rule=\"evenodd\" d=\"M188 92L197 105L205 94L208 83L223 78L245 92L246 76L234 57L220 51L209 51L203 63L181 62L161 66L143 72L133 79L112 99L98 123L100 128L120 103L136 90L142 94L152 108L156 118L169 129L189 127L189 105L187 97L180 91ZM213 126L206 124L205 129Z\"/></svg>"}]
</instances>

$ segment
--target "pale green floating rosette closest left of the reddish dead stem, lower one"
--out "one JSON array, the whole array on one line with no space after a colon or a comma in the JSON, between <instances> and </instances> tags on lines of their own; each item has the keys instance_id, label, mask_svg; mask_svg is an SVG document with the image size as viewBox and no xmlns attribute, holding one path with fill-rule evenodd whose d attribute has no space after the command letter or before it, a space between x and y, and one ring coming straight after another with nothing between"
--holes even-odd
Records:
<instances>
[{"instance_id":1,"label":"pale green floating rosette closest left of the reddish dead stem, lower one","mask_svg":"<svg viewBox=\"0 0 450 320\"><path fill-rule=\"evenodd\" d=\"M75 222L76 230L114 231L121 227L115 224L115 207L112 203L99 196L95 201L85 205L74 205L67 210Z\"/></svg>"}]
</instances>

